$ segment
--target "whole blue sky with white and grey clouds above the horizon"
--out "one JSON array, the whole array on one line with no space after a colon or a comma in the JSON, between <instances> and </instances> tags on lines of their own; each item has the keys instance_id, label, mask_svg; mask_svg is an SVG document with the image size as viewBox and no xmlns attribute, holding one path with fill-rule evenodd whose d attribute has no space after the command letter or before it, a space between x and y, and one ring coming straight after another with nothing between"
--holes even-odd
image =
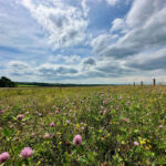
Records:
<instances>
[{"instance_id":1,"label":"whole blue sky with white and grey clouds above the horizon","mask_svg":"<svg viewBox=\"0 0 166 166\"><path fill-rule=\"evenodd\" d=\"M166 0L0 0L0 76L166 82Z\"/></svg>"}]
</instances>

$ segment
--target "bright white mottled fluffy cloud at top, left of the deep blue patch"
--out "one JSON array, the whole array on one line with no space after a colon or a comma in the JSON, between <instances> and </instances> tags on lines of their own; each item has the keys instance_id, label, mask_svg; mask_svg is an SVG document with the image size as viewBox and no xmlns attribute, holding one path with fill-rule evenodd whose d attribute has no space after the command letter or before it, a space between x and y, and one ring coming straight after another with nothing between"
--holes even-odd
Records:
<instances>
[{"instance_id":1,"label":"bright white mottled fluffy cloud at top, left of the deep blue patch","mask_svg":"<svg viewBox=\"0 0 166 166\"><path fill-rule=\"evenodd\" d=\"M80 8L69 6L62 1L51 1L52 4L35 3L32 0L23 0L22 4L28 8L31 15L45 30L49 43L54 49L66 48L81 43L85 39L85 30L89 24L84 19L87 13L85 1Z\"/></svg>"}]
</instances>

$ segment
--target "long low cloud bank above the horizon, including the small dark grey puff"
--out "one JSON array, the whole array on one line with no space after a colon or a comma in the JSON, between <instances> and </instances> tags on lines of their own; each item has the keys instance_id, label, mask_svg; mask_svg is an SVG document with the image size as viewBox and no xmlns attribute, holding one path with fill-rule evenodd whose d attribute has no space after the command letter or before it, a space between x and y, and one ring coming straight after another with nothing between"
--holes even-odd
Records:
<instances>
[{"instance_id":1,"label":"long low cloud bank above the horizon, including the small dark grey puff","mask_svg":"<svg viewBox=\"0 0 166 166\"><path fill-rule=\"evenodd\" d=\"M126 69L120 66L120 62L95 61L93 58L85 58L79 64L64 65L56 63L44 63L41 65L28 64L21 61L10 61L6 68L6 75L11 77L24 77L33 81L66 81L83 80L107 76L124 75Z\"/></svg>"}]
</instances>

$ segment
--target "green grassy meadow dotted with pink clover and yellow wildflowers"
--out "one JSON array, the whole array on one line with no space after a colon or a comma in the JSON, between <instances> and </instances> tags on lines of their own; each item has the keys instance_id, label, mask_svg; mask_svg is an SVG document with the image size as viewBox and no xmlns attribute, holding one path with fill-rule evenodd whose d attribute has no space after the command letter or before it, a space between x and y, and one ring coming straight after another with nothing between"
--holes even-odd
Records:
<instances>
[{"instance_id":1,"label":"green grassy meadow dotted with pink clover and yellow wildflowers","mask_svg":"<svg viewBox=\"0 0 166 166\"><path fill-rule=\"evenodd\" d=\"M0 110L3 166L166 164L166 86L0 89Z\"/></svg>"}]
</instances>

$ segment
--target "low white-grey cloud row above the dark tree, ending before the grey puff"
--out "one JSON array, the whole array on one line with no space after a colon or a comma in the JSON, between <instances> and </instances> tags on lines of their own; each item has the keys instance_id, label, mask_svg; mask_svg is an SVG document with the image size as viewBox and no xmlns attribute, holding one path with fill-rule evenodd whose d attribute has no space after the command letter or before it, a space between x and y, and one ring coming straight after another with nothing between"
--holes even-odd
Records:
<instances>
[{"instance_id":1,"label":"low white-grey cloud row above the dark tree, ending before the grey puff","mask_svg":"<svg viewBox=\"0 0 166 166\"><path fill-rule=\"evenodd\" d=\"M6 69L1 70L3 75L19 81L56 81L75 77L79 73L73 66L44 63L41 65L28 64L22 61L10 61ZM23 79L23 80L22 80Z\"/></svg>"}]
</instances>

